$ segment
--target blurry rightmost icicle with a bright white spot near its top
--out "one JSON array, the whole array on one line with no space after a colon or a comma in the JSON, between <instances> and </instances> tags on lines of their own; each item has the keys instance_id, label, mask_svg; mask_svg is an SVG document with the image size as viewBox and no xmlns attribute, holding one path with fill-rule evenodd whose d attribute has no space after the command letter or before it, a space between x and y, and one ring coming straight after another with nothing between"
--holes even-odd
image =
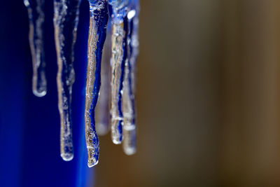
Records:
<instances>
[{"instance_id":1,"label":"blurry rightmost icicle with a bright white spot near its top","mask_svg":"<svg viewBox=\"0 0 280 187\"><path fill-rule=\"evenodd\" d=\"M125 81L123 87L123 149L127 155L136 152L136 124L135 124L135 89L136 89L136 60L138 55L138 24L139 1L133 0L128 19L128 60L125 63Z\"/></svg>"}]
</instances>

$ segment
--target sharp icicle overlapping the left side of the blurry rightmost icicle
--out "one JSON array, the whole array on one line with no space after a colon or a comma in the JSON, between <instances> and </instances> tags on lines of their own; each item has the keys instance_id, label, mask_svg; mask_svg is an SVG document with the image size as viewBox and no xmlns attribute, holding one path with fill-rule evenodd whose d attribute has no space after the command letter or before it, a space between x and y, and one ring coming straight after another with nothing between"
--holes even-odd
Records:
<instances>
[{"instance_id":1,"label":"sharp icicle overlapping the left side of the blurry rightmost icicle","mask_svg":"<svg viewBox=\"0 0 280 187\"><path fill-rule=\"evenodd\" d=\"M112 6L112 81L111 81L111 136L114 144L123 141L123 79L127 59L128 0L109 0Z\"/></svg>"}]
</instances>

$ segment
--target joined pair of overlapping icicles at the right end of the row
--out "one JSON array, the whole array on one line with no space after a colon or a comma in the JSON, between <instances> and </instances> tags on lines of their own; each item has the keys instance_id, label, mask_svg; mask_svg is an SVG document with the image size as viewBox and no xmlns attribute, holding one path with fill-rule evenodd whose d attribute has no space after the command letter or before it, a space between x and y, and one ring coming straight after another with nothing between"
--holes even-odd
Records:
<instances>
[{"instance_id":1,"label":"joined pair of overlapping icicles at the right end of the row","mask_svg":"<svg viewBox=\"0 0 280 187\"><path fill-rule=\"evenodd\" d=\"M139 1L109 0L112 13L111 133L113 143L123 139L125 153L136 151L135 69L138 55Z\"/></svg>"}]
</instances>

